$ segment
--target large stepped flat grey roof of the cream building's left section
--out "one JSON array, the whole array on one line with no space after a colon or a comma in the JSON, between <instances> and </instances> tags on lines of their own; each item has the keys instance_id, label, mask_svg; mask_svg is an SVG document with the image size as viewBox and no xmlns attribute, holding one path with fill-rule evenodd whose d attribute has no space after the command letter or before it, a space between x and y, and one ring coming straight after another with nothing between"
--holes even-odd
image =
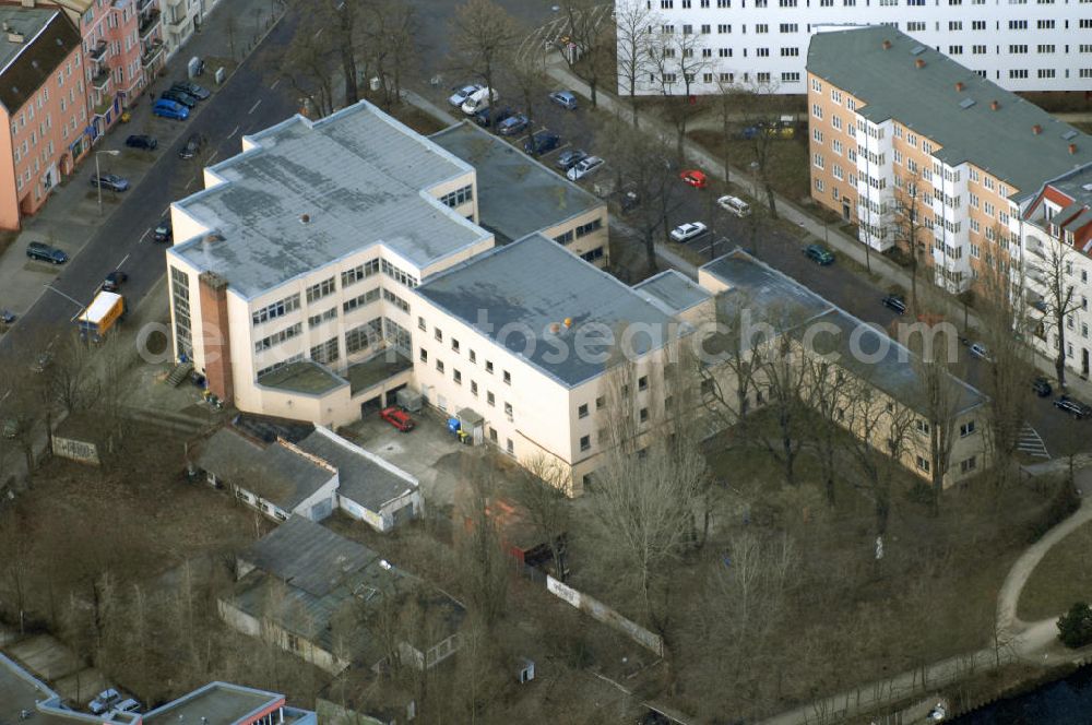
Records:
<instances>
[{"instance_id":1,"label":"large stepped flat grey roof of the cream building's left section","mask_svg":"<svg viewBox=\"0 0 1092 725\"><path fill-rule=\"evenodd\" d=\"M425 268L488 237L425 191L471 167L367 102L249 139L176 202L213 233L168 250L244 297L378 243Z\"/></svg>"}]
</instances>

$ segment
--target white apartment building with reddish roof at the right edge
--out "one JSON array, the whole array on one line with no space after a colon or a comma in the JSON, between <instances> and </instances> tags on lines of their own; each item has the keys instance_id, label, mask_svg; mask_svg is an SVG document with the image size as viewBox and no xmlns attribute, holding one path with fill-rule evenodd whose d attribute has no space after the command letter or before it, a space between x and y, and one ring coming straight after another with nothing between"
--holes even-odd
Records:
<instances>
[{"instance_id":1,"label":"white apartment building with reddish roof at the right edge","mask_svg":"<svg viewBox=\"0 0 1092 725\"><path fill-rule=\"evenodd\" d=\"M1044 183L1021 213L1013 215L1010 229L1023 250L1029 340L1052 359L1064 347L1066 367L1088 379L1092 356L1092 165ZM1063 293L1060 299L1057 292ZM1059 309L1065 319L1060 331Z\"/></svg>"}]
</instances>

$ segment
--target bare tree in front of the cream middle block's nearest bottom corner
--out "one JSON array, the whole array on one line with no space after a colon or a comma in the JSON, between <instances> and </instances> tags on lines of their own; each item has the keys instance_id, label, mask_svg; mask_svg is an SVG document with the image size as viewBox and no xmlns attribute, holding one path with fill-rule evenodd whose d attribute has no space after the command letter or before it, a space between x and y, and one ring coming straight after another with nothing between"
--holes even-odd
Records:
<instances>
[{"instance_id":1,"label":"bare tree in front of the cream middle block's nearest bottom corner","mask_svg":"<svg viewBox=\"0 0 1092 725\"><path fill-rule=\"evenodd\" d=\"M519 476L514 499L526 511L527 522L549 547L554 577L565 581L565 538L569 532L569 501L565 491L571 487L571 475L556 459L545 454L524 462L525 475Z\"/></svg>"}]
</instances>

